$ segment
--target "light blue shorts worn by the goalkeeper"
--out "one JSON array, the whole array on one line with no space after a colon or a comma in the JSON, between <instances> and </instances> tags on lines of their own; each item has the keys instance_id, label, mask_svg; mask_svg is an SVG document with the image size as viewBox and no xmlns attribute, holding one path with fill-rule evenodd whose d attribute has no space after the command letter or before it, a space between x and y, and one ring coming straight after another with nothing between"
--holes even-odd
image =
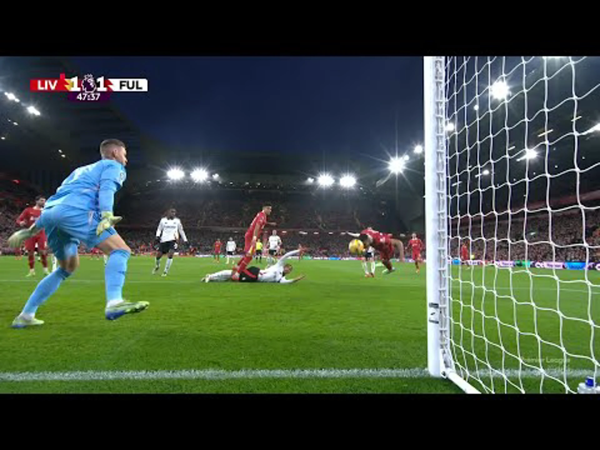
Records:
<instances>
[{"instance_id":1,"label":"light blue shorts worn by the goalkeeper","mask_svg":"<svg viewBox=\"0 0 600 450\"><path fill-rule=\"evenodd\" d=\"M114 227L110 227L100 235L96 228L102 219L98 211L85 211L67 205L50 206L42 211L35 221L37 228L46 230L48 245L59 260L77 254L80 242L92 250L109 236L116 235Z\"/></svg>"}]
</instances>

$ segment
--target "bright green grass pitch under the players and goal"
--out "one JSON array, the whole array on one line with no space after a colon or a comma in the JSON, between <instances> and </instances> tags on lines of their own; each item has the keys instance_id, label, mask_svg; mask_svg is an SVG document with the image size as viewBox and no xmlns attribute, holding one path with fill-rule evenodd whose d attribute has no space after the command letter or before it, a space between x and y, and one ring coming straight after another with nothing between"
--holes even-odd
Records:
<instances>
[{"instance_id":1,"label":"bright green grass pitch under the players and goal","mask_svg":"<svg viewBox=\"0 0 600 450\"><path fill-rule=\"evenodd\" d=\"M169 276L161 278L151 274L152 258L131 257L125 297L149 301L150 307L110 322L104 319L103 262L82 257L76 274L38 310L36 317L46 323L19 330L11 329L10 323L41 279L41 267L36 262L38 275L25 278L26 259L0 258L0 392L461 392L451 382L428 377L424 370L424 270L417 275L413 265L395 263L398 271L391 275L381 275L382 268L378 268L376 278L364 278L358 261L302 260L292 261L293 276L307 275L296 284L200 281L206 273L226 268L223 261L175 257ZM512 352L515 350L511 346L516 346L520 337L510 341L514 329L499 328L491 317L497 313L502 322L509 323L514 319L508 317L511 311L515 314L514 302L508 298L488 299L485 295L491 294L481 288L473 288L474 293L469 290L467 296L465 286L471 289L469 282L482 285L484 272L481 268L461 270L454 275L467 283L463 285L462 316L458 305L454 320L475 333L469 335L463 329L466 352L457 355L470 371L478 358L486 361L486 352L494 367L502 367L500 352L493 355L490 342L503 338L505 349ZM499 272L502 276L508 274L506 269ZM575 272L562 272L560 276L575 276ZM485 283L489 280L486 278ZM542 281L550 283L550 278ZM510 282L508 278L496 278L495 286ZM512 280L512 286L521 289L529 289L528 283L529 276ZM556 281L553 283L556 286ZM556 290L553 292L550 284L538 287L539 302L556 304ZM478 289L485 295L477 295ZM510 293L501 291L497 290L504 295ZM517 289L513 292L519 298ZM528 298L527 290L523 301ZM569 314L585 313L583 304L577 308L566 298L563 300L565 308L574 308ZM533 316L527 316L525 307L517 307L521 331L529 331L535 322ZM598 323L598 317L594 317ZM541 336L545 332L542 330L559 332L552 317L538 314L536 320ZM577 322L587 328L571 326L575 322L568 321L569 346L574 346L574 352L585 352L587 348L585 354L590 355L589 323ZM487 331L487 344L476 337L482 334L482 327ZM499 331L493 335L491 329ZM596 333L596 337L599 335ZM557 338L553 334L542 337L548 341ZM558 339L560 342L560 336ZM522 343L519 348L521 358L538 358L536 343ZM505 367L518 368L518 364L511 364L505 358ZM586 364L581 361L573 367L587 369ZM479 377L485 382L483 375ZM580 381L577 377L569 380L575 386ZM496 383L496 391L511 391L504 389L502 379L489 383ZM539 391L539 379L515 383L527 392ZM547 383L544 391L565 389L554 382Z\"/></svg>"}]
</instances>

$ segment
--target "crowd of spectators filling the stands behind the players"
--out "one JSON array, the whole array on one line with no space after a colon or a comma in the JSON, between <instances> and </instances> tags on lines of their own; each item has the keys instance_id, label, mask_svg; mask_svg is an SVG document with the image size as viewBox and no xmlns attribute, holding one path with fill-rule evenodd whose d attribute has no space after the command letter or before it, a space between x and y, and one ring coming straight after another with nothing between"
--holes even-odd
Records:
<instances>
[{"instance_id":1,"label":"crowd of spectators filling the stands behind the players","mask_svg":"<svg viewBox=\"0 0 600 450\"><path fill-rule=\"evenodd\" d=\"M7 248L7 238L17 229L16 218L33 202L35 194L25 184L0 178L2 254L13 253ZM349 241L344 232L357 232L367 226L400 235L405 245L410 239L412 230L398 229L394 212L385 202L355 202L347 198L325 202L319 196L280 197L269 202L274 211L271 220L277 226L266 229L263 241L272 229L277 229L284 251L302 244L313 257L344 257L348 255ZM130 198L119 204L121 211L127 211L123 213L125 218L119 224L119 233L134 253L151 253L158 221L167 208L174 207L190 241L191 248L184 251L212 253L217 238L226 242L230 237L239 249L244 244L245 229L263 203L263 199L242 198L239 194L227 199L199 199L190 194L166 201ZM451 222L449 236L452 257L458 257L460 245L466 242L473 259L585 261L589 257L591 261L600 262L600 209L587 209L584 217L579 208L553 212L551 221L547 212L528 214L526 220L522 212L513 214L510 219L504 215L496 220L494 215L488 215L483 223L478 217L463 216L460 223ZM425 240L424 236L420 237ZM406 256L409 256L408 251Z\"/></svg>"}]
</instances>

